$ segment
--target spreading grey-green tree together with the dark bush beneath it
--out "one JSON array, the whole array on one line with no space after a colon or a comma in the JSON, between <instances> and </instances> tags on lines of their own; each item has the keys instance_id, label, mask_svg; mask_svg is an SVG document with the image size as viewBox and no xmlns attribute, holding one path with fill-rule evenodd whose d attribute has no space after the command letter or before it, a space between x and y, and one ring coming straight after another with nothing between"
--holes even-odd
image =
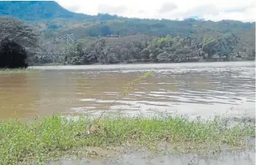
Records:
<instances>
[{"instance_id":1,"label":"spreading grey-green tree together with the dark bush beneath it","mask_svg":"<svg viewBox=\"0 0 256 165\"><path fill-rule=\"evenodd\" d=\"M0 17L0 68L26 68L28 56L25 50L37 46L39 35L18 19Z\"/></svg>"}]
</instances>

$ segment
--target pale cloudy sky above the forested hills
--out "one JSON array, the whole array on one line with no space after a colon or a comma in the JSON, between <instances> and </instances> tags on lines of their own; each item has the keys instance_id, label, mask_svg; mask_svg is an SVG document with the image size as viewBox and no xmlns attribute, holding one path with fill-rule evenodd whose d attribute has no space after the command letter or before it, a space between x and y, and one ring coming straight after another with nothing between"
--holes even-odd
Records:
<instances>
[{"instance_id":1,"label":"pale cloudy sky above the forested hills","mask_svg":"<svg viewBox=\"0 0 256 165\"><path fill-rule=\"evenodd\" d=\"M76 13L97 13L149 19L184 19L197 16L219 21L255 22L255 0L58 0Z\"/></svg>"}]
</instances>

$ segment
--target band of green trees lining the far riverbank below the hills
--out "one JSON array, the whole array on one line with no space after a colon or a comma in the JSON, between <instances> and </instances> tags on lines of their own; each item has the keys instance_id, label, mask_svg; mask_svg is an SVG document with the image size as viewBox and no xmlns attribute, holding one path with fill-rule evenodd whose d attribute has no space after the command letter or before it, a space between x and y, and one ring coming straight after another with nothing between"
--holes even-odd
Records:
<instances>
[{"instance_id":1,"label":"band of green trees lining the far riverbank below the hills","mask_svg":"<svg viewBox=\"0 0 256 165\"><path fill-rule=\"evenodd\" d=\"M100 37L79 40L64 58L37 57L38 63L179 63L213 60L255 60L255 49L243 47L236 34L219 38L198 37Z\"/></svg>"}]
</instances>

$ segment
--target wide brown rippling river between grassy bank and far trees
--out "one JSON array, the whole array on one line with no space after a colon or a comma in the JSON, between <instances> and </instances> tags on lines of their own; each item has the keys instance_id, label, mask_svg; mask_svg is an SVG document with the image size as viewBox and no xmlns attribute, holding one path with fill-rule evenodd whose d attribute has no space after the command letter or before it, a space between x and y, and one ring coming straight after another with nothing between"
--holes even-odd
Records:
<instances>
[{"instance_id":1,"label":"wide brown rippling river between grassy bank and far trees","mask_svg":"<svg viewBox=\"0 0 256 165\"><path fill-rule=\"evenodd\" d=\"M106 66L38 66L40 72L0 75L0 118L50 113L97 114L118 98L128 81L153 75L109 112L255 114L255 62Z\"/></svg>"}]
</instances>

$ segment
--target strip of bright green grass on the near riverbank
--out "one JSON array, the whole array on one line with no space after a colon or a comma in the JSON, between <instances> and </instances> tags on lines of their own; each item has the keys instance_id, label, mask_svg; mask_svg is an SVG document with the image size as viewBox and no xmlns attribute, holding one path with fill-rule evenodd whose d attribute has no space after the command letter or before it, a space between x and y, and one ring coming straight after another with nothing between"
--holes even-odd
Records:
<instances>
[{"instance_id":1,"label":"strip of bright green grass on the near riverbank","mask_svg":"<svg viewBox=\"0 0 256 165\"><path fill-rule=\"evenodd\" d=\"M189 148L179 152L187 152L202 146L244 146L246 137L255 137L255 125L239 120L230 127L228 121L219 118L189 121L183 116L4 120L0 122L0 164L56 158L85 146L105 148L129 143L153 149L156 143L165 141L174 146L183 144Z\"/></svg>"}]
</instances>

